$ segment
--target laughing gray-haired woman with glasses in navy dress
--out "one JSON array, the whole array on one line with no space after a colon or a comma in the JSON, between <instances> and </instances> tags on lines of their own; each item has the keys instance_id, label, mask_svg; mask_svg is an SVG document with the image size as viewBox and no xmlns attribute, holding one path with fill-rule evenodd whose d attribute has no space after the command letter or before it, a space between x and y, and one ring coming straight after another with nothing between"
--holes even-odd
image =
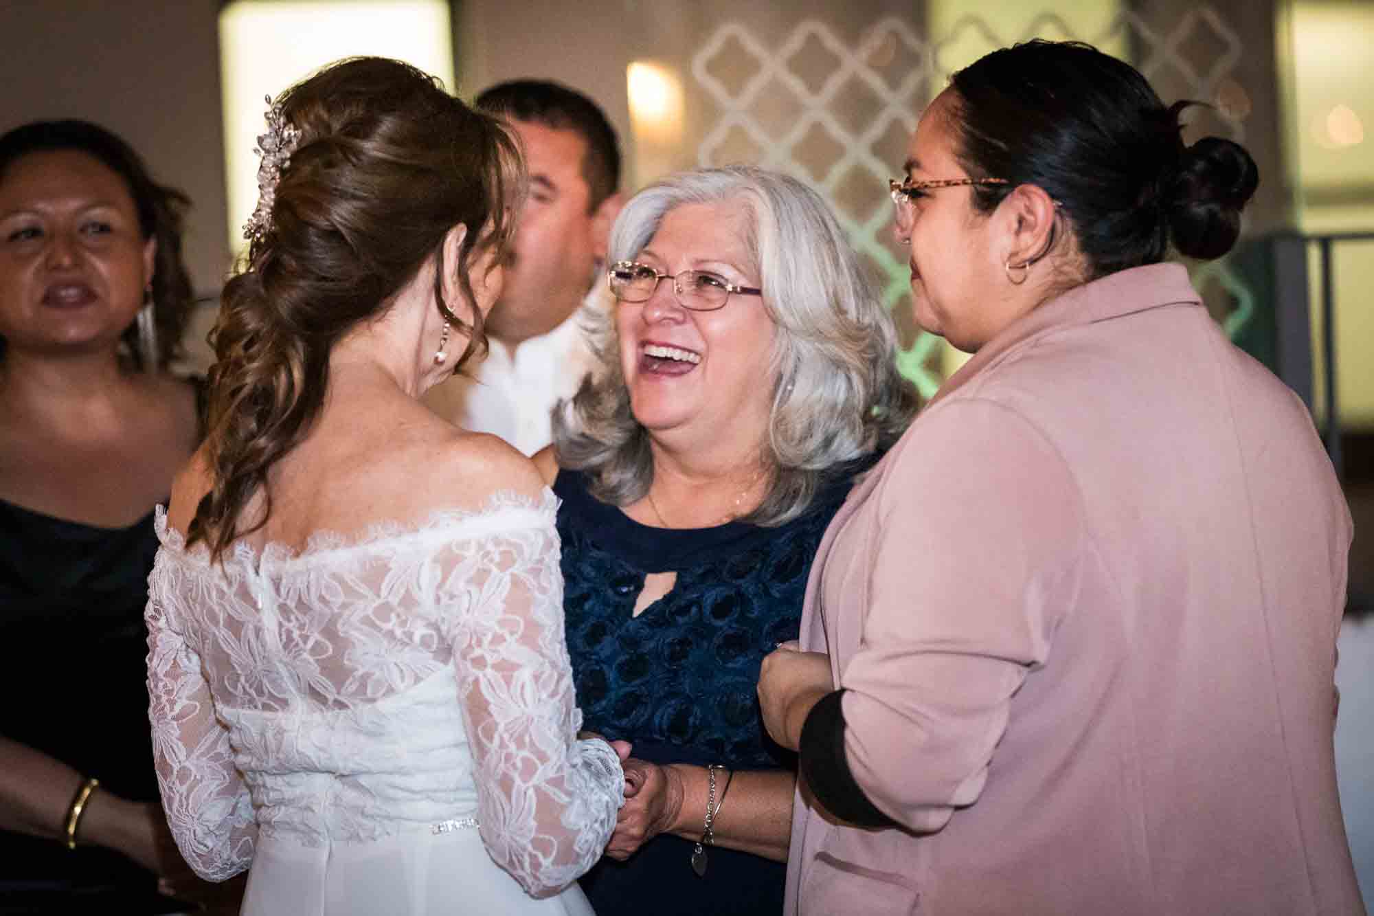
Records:
<instances>
[{"instance_id":1,"label":"laughing gray-haired woman with glasses in navy dress","mask_svg":"<svg viewBox=\"0 0 1374 916\"><path fill-rule=\"evenodd\" d=\"M764 655L798 634L812 556L915 393L826 204L754 168L671 176L610 239L603 371L536 462L562 501L584 728L633 743L583 882L596 912L776 913L796 765L764 734Z\"/></svg>"}]
</instances>

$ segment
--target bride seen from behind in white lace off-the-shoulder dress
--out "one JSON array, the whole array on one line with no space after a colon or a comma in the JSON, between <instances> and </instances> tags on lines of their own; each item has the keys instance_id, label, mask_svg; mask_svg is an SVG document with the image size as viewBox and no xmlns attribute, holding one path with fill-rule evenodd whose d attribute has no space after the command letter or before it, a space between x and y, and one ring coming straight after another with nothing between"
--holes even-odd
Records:
<instances>
[{"instance_id":1,"label":"bride seen from behind in white lace off-the-shoulder dress","mask_svg":"<svg viewBox=\"0 0 1374 916\"><path fill-rule=\"evenodd\" d=\"M591 913L622 800L577 740L555 499L416 397L482 342L521 166L376 58L287 91L210 432L158 512L148 692L187 862L245 913Z\"/></svg>"}]
</instances>

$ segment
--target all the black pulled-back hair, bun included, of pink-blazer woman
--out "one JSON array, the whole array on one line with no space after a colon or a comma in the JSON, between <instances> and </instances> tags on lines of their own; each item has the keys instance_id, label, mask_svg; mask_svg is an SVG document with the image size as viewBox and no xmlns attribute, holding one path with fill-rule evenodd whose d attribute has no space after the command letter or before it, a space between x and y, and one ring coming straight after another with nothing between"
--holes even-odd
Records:
<instances>
[{"instance_id":1,"label":"all the black pulled-back hair, bun included, of pink-blazer woman","mask_svg":"<svg viewBox=\"0 0 1374 916\"><path fill-rule=\"evenodd\" d=\"M1259 176L1237 143L1184 147L1179 116L1139 70L1096 48L1041 41L1000 48L951 77L956 155L989 213L1035 184L1069 217L1085 279L1158 264L1172 248L1217 257L1235 243Z\"/></svg>"}]
</instances>

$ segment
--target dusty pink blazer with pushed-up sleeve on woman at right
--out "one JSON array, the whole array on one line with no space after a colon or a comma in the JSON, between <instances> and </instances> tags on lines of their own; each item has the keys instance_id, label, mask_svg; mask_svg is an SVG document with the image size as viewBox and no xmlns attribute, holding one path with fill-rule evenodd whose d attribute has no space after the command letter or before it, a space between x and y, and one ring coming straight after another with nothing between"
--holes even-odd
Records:
<instances>
[{"instance_id":1,"label":"dusty pink blazer with pushed-up sleeve on woman at right","mask_svg":"<svg viewBox=\"0 0 1374 916\"><path fill-rule=\"evenodd\" d=\"M802 646L905 829L801 785L787 913L1362 913L1331 750L1351 517L1183 267L1044 304L835 516Z\"/></svg>"}]
</instances>

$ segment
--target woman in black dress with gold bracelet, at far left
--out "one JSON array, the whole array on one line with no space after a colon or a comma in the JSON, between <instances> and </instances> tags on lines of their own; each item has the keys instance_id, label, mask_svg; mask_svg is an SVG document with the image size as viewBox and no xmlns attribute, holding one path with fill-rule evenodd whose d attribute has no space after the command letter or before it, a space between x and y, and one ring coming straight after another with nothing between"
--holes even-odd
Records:
<instances>
[{"instance_id":1,"label":"woman in black dress with gold bracelet, at far left","mask_svg":"<svg viewBox=\"0 0 1374 916\"><path fill-rule=\"evenodd\" d=\"M196 389L165 373L192 307L185 206L93 124L0 138L0 908L184 869L143 605L153 506L199 439Z\"/></svg>"}]
</instances>

